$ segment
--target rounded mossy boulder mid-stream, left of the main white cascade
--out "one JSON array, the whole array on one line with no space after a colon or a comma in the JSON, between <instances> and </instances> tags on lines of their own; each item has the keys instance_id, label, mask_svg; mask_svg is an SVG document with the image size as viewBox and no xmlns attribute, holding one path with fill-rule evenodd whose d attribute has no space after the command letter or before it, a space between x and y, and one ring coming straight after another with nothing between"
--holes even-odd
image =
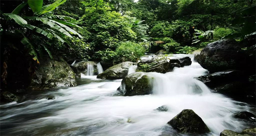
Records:
<instances>
[{"instance_id":1,"label":"rounded mossy boulder mid-stream, left of the main white cascade","mask_svg":"<svg viewBox=\"0 0 256 136\"><path fill-rule=\"evenodd\" d=\"M145 72L131 73L122 80L118 90L124 96L149 95L152 90L151 78Z\"/></svg>"}]
</instances>

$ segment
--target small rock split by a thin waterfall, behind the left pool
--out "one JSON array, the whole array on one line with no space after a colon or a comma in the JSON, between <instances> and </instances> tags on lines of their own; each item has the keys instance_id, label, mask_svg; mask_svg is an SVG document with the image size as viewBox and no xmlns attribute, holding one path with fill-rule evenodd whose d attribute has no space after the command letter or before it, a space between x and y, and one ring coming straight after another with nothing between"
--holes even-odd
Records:
<instances>
[{"instance_id":1,"label":"small rock split by a thin waterfall, behind the left pool","mask_svg":"<svg viewBox=\"0 0 256 136\"><path fill-rule=\"evenodd\" d=\"M81 71L81 73L86 75L88 65L93 65L93 68L94 68L93 73L94 73L94 75L97 75L98 74L98 69L97 69L97 63L96 62L82 61L82 62L75 63L73 66L76 67L77 69L79 69Z\"/></svg>"}]
</instances>

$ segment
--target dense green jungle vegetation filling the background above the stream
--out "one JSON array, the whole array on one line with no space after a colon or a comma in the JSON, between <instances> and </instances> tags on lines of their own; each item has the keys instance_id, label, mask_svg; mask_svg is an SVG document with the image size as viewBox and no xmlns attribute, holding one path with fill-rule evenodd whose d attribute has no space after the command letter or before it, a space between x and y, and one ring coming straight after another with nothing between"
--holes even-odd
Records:
<instances>
[{"instance_id":1,"label":"dense green jungle vegetation filling the background above the stream","mask_svg":"<svg viewBox=\"0 0 256 136\"><path fill-rule=\"evenodd\" d=\"M223 37L255 44L254 0L1 1L1 77L31 74L44 57L136 62L145 52L191 53ZM15 73L14 73L15 74Z\"/></svg>"}]
</instances>

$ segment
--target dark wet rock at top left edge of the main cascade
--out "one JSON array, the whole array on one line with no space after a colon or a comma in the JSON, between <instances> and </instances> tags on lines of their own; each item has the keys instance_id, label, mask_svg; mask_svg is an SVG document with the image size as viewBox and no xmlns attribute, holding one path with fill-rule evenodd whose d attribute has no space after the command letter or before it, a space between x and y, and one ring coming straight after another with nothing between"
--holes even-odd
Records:
<instances>
[{"instance_id":1,"label":"dark wet rock at top left edge of the main cascade","mask_svg":"<svg viewBox=\"0 0 256 136\"><path fill-rule=\"evenodd\" d=\"M148 69L147 72L158 72L158 73L166 73L172 71L171 65L169 62L162 62L160 64L157 64L150 69Z\"/></svg>"}]
</instances>

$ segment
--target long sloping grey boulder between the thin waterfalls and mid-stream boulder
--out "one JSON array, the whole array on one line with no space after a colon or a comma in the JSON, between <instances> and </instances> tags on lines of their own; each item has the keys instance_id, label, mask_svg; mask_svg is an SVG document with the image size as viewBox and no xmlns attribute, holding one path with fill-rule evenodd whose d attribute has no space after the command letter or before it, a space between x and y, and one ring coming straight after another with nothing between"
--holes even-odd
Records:
<instances>
[{"instance_id":1,"label":"long sloping grey boulder between the thin waterfalls and mid-stream boulder","mask_svg":"<svg viewBox=\"0 0 256 136\"><path fill-rule=\"evenodd\" d=\"M117 65L114 65L104 72L97 75L97 79L108 79L108 80L115 80L115 79L123 79L127 74L129 67L132 66L133 62L123 62Z\"/></svg>"}]
</instances>

